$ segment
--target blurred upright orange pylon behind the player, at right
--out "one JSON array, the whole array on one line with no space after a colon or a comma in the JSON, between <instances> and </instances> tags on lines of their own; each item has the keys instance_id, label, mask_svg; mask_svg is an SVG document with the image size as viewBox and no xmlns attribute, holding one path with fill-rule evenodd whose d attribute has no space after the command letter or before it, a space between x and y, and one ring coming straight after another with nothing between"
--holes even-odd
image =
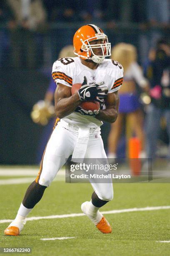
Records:
<instances>
[{"instance_id":1,"label":"blurred upright orange pylon behind the player, at right","mask_svg":"<svg viewBox=\"0 0 170 256\"><path fill-rule=\"evenodd\" d=\"M132 174L137 176L140 175L141 171L141 160L139 159L139 154L141 151L141 142L137 137L129 139L129 164Z\"/></svg>"}]
</instances>

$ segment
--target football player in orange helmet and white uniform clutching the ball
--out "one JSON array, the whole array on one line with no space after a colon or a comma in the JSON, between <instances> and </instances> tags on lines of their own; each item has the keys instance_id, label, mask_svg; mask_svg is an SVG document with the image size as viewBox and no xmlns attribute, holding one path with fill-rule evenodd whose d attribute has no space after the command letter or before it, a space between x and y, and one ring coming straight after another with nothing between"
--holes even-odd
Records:
<instances>
[{"instance_id":1,"label":"football player in orange helmet and white uniform clutching the ball","mask_svg":"<svg viewBox=\"0 0 170 256\"><path fill-rule=\"evenodd\" d=\"M107 36L95 25L79 28L73 38L77 57L65 57L55 61L52 77L55 90L54 131L45 148L37 178L28 187L18 214L5 229L5 235L17 236L23 230L26 216L40 201L42 195L65 164L66 159L106 159L100 125L102 121L115 122L118 115L118 90L122 85L123 68L117 61L105 59L110 56ZM81 83L80 89L72 95L72 84ZM97 100L100 108L83 110L84 101ZM105 109L102 105L105 103ZM94 192L90 201L81 205L82 211L102 233L112 229L99 209L113 198L110 179L105 183L92 183Z\"/></svg>"}]
</instances>

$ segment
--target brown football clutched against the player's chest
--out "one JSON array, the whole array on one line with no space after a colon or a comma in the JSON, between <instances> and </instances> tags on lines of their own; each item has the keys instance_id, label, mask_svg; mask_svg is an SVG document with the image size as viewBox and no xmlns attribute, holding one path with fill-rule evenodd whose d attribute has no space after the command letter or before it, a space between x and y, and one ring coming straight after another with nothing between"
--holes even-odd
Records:
<instances>
[{"instance_id":1,"label":"brown football clutched against the player's chest","mask_svg":"<svg viewBox=\"0 0 170 256\"><path fill-rule=\"evenodd\" d=\"M77 92L82 84L77 83L77 84L72 84L72 88L71 88L71 93L72 95ZM85 109L85 110L98 110L100 108L100 103L93 100L93 101L84 101L80 104L80 107Z\"/></svg>"}]
</instances>

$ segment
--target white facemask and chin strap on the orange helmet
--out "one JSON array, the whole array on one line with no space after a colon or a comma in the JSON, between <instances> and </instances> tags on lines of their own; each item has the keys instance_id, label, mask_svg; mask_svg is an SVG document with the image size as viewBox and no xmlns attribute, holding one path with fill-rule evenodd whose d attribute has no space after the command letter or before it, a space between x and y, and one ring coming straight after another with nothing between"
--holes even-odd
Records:
<instances>
[{"instance_id":1,"label":"white facemask and chin strap on the orange helmet","mask_svg":"<svg viewBox=\"0 0 170 256\"><path fill-rule=\"evenodd\" d=\"M103 40L104 42L101 44L90 44L90 42L95 40ZM98 33L95 34L94 37L88 38L85 41L80 38L80 41L82 42L82 47L80 51L87 52L87 57L81 54L76 54L79 57L83 57L84 59L91 59L95 63L102 63L102 61L105 59L105 57L111 56L111 45L108 42L108 38L104 33ZM97 55L94 53L95 49L101 50L101 55Z\"/></svg>"}]
</instances>

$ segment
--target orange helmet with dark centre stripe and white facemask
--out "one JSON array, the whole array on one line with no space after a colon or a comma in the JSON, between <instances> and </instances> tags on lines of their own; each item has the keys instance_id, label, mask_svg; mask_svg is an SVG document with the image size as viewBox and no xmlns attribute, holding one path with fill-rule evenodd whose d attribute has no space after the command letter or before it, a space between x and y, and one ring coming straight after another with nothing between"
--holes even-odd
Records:
<instances>
[{"instance_id":1,"label":"orange helmet with dark centre stripe and white facemask","mask_svg":"<svg viewBox=\"0 0 170 256\"><path fill-rule=\"evenodd\" d=\"M94 40L103 40L101 44L89 44ZM102 63L105 57L111 56L111 45L101 28L88 24L79 28L73 38L74 54L82 59L91 59L95 63ZM102 49L102 55L94 54L93 49Z\"/></svg>"}]
</instances>

